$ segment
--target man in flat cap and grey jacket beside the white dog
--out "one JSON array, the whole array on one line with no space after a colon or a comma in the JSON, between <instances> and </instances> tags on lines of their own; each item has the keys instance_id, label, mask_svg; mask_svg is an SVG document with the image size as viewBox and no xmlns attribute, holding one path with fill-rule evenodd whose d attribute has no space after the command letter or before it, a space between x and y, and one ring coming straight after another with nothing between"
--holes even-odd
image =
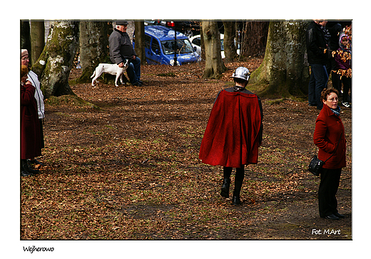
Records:
<instances>
[{"instance_id":1,"label":"man in flat cap and grey jacket beside the white dog","mask_svg":"<svg viewBox=\"0 0 371 259\"><path fill-rule=\"evenodd\" d=\"M118 64L123 67L125 59L130 61L126 73L130 83L133 86L142 86L141 81L141 59L136 55L136 51L131 44L130 37L126 33L128 28L128 21L116 21L116 28L113 29L112 34L109 36L109 56L113 64Z\"/></svg>"}]
</instances>

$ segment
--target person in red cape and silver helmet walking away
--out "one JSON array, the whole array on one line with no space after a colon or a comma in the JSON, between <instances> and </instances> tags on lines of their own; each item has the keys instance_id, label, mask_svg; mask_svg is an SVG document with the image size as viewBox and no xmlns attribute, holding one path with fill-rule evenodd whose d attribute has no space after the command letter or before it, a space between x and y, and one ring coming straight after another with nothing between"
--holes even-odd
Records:
<instances>
[{"instance_id":1,"label":"person in red cape and silver helmet walking away","mask_svg":"<svg viewBox=\"0 0 371 259\"><path fill-rule=\"evenodd\" d=\"M223 166L220 195L229 198L230 175L235 172L233 205L240 205L245 165L258 163L258 147L263 139L263 108L260 98L245 87L248 68L240 66L233 75L235 86L218 93L210 113L199 158L211 166Z\"/></svg>"}]
</instances>

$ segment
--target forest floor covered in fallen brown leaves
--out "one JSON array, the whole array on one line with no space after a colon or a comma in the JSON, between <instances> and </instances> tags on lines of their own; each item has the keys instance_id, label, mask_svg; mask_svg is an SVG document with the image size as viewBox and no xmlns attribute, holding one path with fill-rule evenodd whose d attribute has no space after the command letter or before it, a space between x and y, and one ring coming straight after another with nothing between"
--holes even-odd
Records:
<instances>
[{"instance_id":1,"label":"forest floor covered in fallen brown leaves","mask_svg":"<svg viewBox=\"0 0 371 259\"><path fill-rule=\"evenodd\" d=\"M337 192L345 219L318 215L319 178L307 168L319 111L306 101L262 99L263 144L245 168L242 205L219 195L223 169L199 161L218 91L233 69L260 62L226 63L220 80L204 80L200 64L143 65L142 87L71 86L98 108L46 100L44 166L21 178L21 240L352 240L350 108ZM234 173L231 192L233 183Z\"/></svg>"}]
</instances>

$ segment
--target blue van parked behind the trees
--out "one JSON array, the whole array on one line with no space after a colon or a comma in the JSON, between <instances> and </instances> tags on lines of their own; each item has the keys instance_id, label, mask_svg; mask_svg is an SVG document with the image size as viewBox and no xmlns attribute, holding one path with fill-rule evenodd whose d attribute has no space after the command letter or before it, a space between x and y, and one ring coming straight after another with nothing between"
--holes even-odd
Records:
<instances>
[{"instance_id":1,"label":"blue van parked behind the trees","mask_svg":"<svg viewBox=\"0 0 371 259\"><path fill-rule=\"evenodd\" d=\"M145 26L144 33L147 63L173 66L175 31L161 25L148 25ZM200 61L200 56L193 50L187 36L177 31L176 42L178 44L176 54L178 66Z\"/></svg>"}]
</instances>

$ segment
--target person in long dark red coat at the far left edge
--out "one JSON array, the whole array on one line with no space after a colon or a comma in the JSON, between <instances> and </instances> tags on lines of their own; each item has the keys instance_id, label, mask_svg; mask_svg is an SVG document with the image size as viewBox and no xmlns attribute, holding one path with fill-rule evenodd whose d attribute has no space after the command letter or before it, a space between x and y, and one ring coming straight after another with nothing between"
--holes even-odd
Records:
<instances>
[{"instance_id":1,"label":"person in long dark red coat at the far left edge","mask_svg":"<svg viewBox=\"0 0 371 259\"><path fill-rule=\"evenodd\" d=\"M40 126L35 87L27 79L28 69L21 66L21 176L39 173L29 168L27 159L41 156Z\"/></svg>"}]
</instances>

